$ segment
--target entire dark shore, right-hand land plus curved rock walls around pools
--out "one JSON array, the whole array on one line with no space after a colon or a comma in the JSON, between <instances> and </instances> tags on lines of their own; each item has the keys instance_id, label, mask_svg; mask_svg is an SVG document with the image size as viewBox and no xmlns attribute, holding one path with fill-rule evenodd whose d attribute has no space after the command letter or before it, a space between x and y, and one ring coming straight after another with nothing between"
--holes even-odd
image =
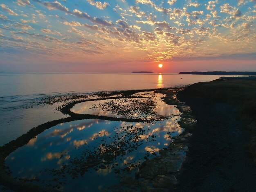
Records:
<instances>
[{"instance_id":1,"label":"entire dark shore, right-hand land plus curved rock walls around pools","mask_svg":"<svg viewBox=\"0 0 256 192\"><path fill-rule=\"evenodd\" d=\"M148 181L148 179L154 180L154 188L148 188L147 184L145 184L147 182L144 183L144 188L141 187L141 183L136 183L136 185L140 186L144 191L163 191L166 190L166 188L177 191L254 191L256 189L256 183L254 182L256 170L252 158L252 152L254 150L254 144L252 141L254 140L251 141L252 146L248 146L253 135L252 129L244 129L245 127L253 127L253 116L245 116L246 111L244 111L244 109L242 110L241 106L234 105L234 103L236 103L235 98L231 100L227 95L225 95L223 89L228 89L223 85L227 83L226 86L229 88L231 87L233 90L232 86L230 86L230 83L234 83L232 81L235 81L236 87L239 87L238 83L240 81L248 84L248 80L215 80L212 82L190 85L183 91L180 91L181 89L177 88L165 88L128 90L120 92L99 92L98 95L101 96L101 98L95 100L129 98L132 97L132 94L137 92L154 90L156 92L166 94L166 97L162 99L169 105L176 105L180 112L183 113L181 115L182 121L179 123L185 128L185 131L177 136L175 141L166 149L161 150L161 152L159 152L160 156L145 161L140 167L139 173L136 174L135 179L130 177L126 178L122 185L135 185L137 182L136 179L142 178L144 180L146 179L145 181ZM254 82L255 81L251 80L248 85L250 86ZM213 94L213 92L216 92L215 88L220 89L219 85L214 87L216 86L215 83L222 83L220 91L224 92L223 94L225 97L223 97L223 95ZM178 90L180 92L177 94ZM243 89L236 90L238 92L243 91ZM112 97L114 94L119 96ZM209 94L211 94L211 97ZM201 97L198 95L201 95ZM221 96L222 99L218 98L219 96ZM74 114L70 111L70 108L72 108L76 103L85 102L86 100L90 99L72 101L63 105L63 107L59 109L63 114L68 114L70 117L39 125L31 129L27 134L20 136L3 147L0 147L0 183L12 190L18 191L55 191L54 189L44 188L39 185L25 183L24 181L14 179L10 173L7 172L6 168L8 167L6 167L4 163L4 159L11 152L16 150L18 147L25 145L30 139L54 125L87 118L129 122L145 121L145 119ZM189 107L187 105L189 105ZM192 113L190 108L192 109ZM241 112L244 113L243 118ZM196 125L193 123L193 118L197 120ZM164 175L163 170L166 168L165 166L159 167L158 165L168 165L168 163L166 164L164 161L168 158L173 158L175 156L175 153L173 154L173 152L180 150L181 148L186 149L187 147L189 147L188 152L187 150L184 151L187 153L186 159L183 164L178 165L181 167L181 170L180 168L178 168L177 171L170 170L168 174L164 172L164 177L159 177L158 175ZM245 148L247 150L245 150ZM252 152L250 152L250 150ZM153 174L148 174L148 172L152 170L154 170ZM127 179L130 179L129 182L127 182Z\"/></svg>"}]
</instances>

